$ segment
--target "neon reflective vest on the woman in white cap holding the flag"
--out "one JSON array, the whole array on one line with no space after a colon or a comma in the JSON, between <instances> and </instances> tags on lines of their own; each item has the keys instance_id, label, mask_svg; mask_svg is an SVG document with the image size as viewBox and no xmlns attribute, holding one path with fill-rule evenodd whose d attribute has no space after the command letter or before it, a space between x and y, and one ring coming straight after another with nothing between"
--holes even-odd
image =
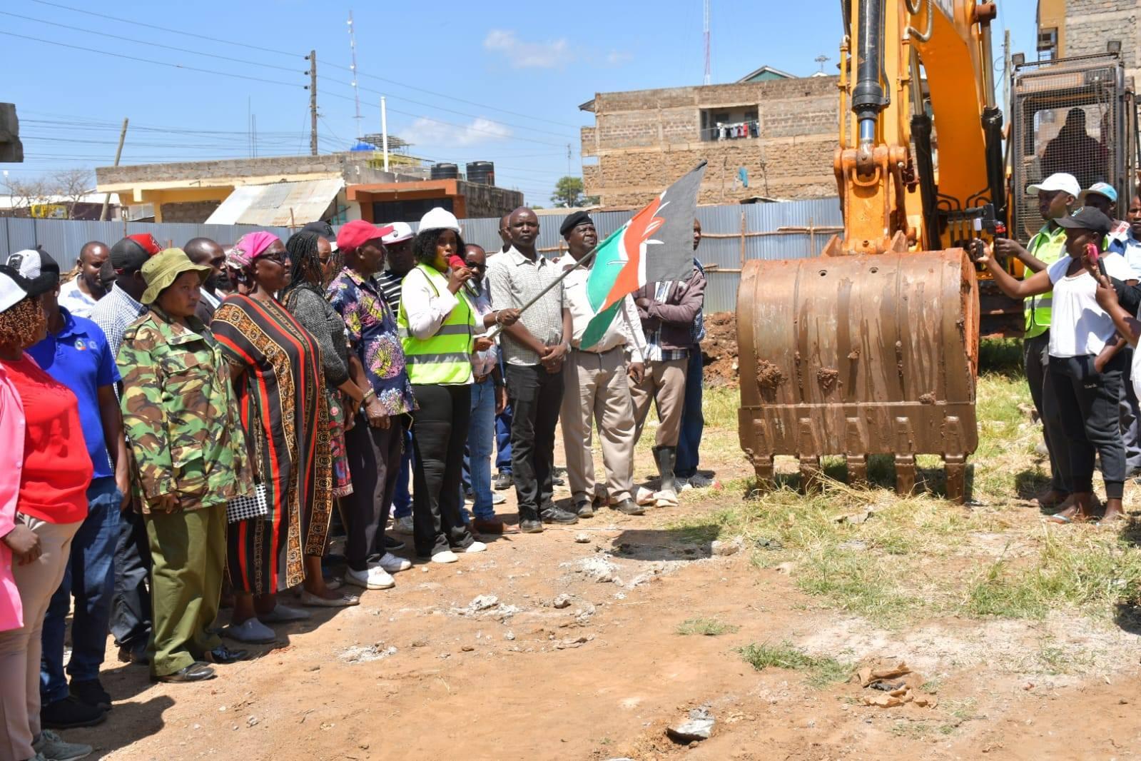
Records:
<instances>
[{"instance_id":1,"label":"neon reflective vest on the woman in white cap holding the flag","mask_svg":"<svg viewBox=\"0 0 1141 761\"><path fill-rule=\"evenodd\" d=\"M415 267L431 286L436 296L447 289L447 278L426 265ZM406 290L404 291L407 292ZM452 313L444 318L436 334L429 339L418 339L408 330L408 313L400 298L400 308L396 316L396 325L404 347L404 359L407 363L408 380L413 383L470 383L471 348L475 334L475 310L461 290L455 296L458 301Z\"/></svg>"}]
</instances>

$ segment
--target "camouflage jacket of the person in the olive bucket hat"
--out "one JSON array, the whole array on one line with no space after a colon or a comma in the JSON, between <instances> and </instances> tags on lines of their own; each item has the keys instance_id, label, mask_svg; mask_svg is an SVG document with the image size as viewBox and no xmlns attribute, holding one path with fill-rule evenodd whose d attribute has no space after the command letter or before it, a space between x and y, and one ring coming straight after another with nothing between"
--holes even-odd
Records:
<instances>
[{"instance_id":1,"label":"camouflage jacket of the person in the olive bucket hat","mask_svg":"<svg viewBox=\"0 0 1141 761\"><path fill-rule=\"evenodd\" d=\"M195 510L253 492L229 365L210 330L188 322L193 330L152 307L119 347L123 430L143 512L162 494Z\"/></svg>"}]
</instances>

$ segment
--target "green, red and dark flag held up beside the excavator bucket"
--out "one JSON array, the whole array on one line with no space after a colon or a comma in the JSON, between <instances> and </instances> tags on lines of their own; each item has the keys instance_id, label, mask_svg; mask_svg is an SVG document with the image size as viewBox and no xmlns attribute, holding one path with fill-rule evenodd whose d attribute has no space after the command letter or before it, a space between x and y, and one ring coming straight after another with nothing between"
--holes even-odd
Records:
<instances>
[{"instance_id":1,"label":"green, red and dark flag held up beside the excavator bucket","mask_svg":"<svg viewBox=\"0 0 1141 761\"><path fill-rule=\"evenodd\" d=\"M586 298L594 317L582 348L598 343L622 299L647 283L685 280L694 268L694 217L705 176L702 161L594 248Z\"/></svg>"}]
</instances>

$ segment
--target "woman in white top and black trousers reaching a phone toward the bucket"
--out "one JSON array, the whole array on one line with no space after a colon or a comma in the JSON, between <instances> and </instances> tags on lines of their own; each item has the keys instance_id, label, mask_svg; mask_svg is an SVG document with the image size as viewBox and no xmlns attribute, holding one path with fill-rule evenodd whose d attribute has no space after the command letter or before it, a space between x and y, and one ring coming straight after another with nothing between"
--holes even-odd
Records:
<instances>
[{"instance_id":1,"label":"woman in white top and black trousers reaching a phone toward the bucket","mask_svg":"<svg viewBox=\"0 0 1141 761\"><path fill-rule=\"evenodd\" d=\"M1106 481L1103 520L1122 517L1125 486L1125 446L1118 421L1125 340L1117 334L1112 317L1098 303L1094 273L1104 267L1110 277L1132 277L1125 259L1102 251L1112 226L1092 207L1073 217L1055 220L1066 229L1066 256L1026 280L1015 280L995 261L990 248L979 264L986 266L1002 291L1014 299L1053 291L1050 329L1050 377L1054 394L1045 405L1057 405L1066 431L1071 484L1070 501L1051 516L1054 523L1097 520L1093 499L1094 453L1101 455Z\"/></svg>"}]
</instances>

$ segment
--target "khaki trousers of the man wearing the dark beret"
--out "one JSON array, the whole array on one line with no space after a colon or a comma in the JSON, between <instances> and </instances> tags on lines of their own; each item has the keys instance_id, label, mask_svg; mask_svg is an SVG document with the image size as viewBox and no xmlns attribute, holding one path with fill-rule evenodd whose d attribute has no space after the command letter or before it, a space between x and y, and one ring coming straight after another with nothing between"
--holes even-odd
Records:
<instances>
[{"instance_id":1,"label":"khaki trousers of the man wearing the dark beret","mask_svg":"<svg viewBox=\"0 0 1141 761\"><path fill-rule=\"evenodd\" d=\"M626 382L625 353L573 350L563 365L563 445L572 503L594 500L591 432L598 423L609 500L632 497L634 480L634 411Z\"/></svg>"}]
</instances>

